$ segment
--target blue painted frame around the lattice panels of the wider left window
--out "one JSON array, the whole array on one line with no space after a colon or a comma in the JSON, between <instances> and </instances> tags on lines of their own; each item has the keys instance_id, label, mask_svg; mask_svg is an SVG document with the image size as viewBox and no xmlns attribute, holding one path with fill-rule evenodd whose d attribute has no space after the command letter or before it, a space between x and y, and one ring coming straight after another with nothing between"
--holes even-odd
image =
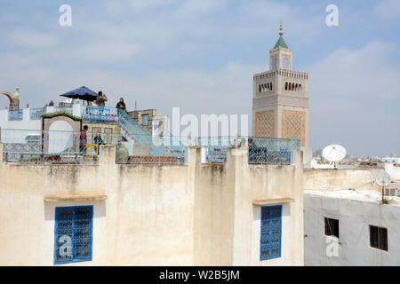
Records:
<instances>
[{"instance_id":1,"label":"blue painted frame around the lattice panels of the wider left window","mask_svg":"<svg viewBox=\"0 0 400 284\"><path fill-rule=\"evenodd\" d=\"M68 210L70 209L72 211L72 230L71 230L71 258L68 260L57 260L57 249L58 248L58 229L59 229L59 214L60 210ZM89 241L88 241L88 256L76 256L76 209L89 209ZM54 256L53 256L53 261L54 264L70 264L70 263L77 263L77 262L83 262L83 261L92 261L92 232L93 232L93 206L72 206L72 207L57 207L55 209L55 222L54 222Z\"/></svg>"}]
</instances>

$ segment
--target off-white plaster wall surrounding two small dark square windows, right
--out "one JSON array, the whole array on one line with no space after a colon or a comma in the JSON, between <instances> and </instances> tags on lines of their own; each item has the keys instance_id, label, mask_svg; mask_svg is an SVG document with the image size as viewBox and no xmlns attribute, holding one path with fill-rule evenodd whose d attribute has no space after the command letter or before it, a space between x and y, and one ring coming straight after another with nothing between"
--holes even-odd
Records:
<instances>
[{"instance_id":1,"label":"off-white plaster wall surrounding two small dark square windows, right","mask_svg":"<svg viewBox=\"0 0 400 284\"><path fill-rule=\"evenodd\" d=\"M339 220L338 256L327 256L324 217ZM400 265L400 207L304 194L305 265ZM369 225L388 229L388 251L370 247Z\"/></svg>"}]
</instances>

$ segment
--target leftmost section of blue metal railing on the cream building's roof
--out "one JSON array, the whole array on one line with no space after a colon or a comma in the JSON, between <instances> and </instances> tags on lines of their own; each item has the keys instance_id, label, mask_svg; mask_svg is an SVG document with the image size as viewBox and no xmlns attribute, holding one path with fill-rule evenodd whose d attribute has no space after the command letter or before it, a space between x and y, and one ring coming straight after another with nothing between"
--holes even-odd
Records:
<instances>
[{"instance_id":1,"label":"leftmost section of blue metal railing on the cream building's roof","mask_svg":"<svg viewBox=\"0 0 400 284\"><path fill-rule=\"evenodd\" d=\"M1 130L4 162L97 164L93 133L52 130Z\"/></svg>"}]
</instances>

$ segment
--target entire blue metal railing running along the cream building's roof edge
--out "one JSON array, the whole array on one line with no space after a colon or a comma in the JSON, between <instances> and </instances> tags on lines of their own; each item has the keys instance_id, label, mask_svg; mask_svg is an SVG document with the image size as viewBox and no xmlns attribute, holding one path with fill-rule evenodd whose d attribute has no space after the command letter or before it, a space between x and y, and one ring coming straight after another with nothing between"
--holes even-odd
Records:
<instances>
[{"instance_id":1,"label":"entire blue metal railing running along the cream building's roof edge","mask_svg":"<svg viewBox=\"0 0 400 284\"><path fill-rule=\"evenodd\" d=\"M224 163L227 149L248 146L249 164L281 164L293 162L293 153L300 149L299 140L255 137L166 137L51 130L2 130L5 162L52 162L96 164L100 145L116 145L118 164L183 164L187 146L202 147L202 161ZM203 159L204 155L204 159Z\"/></svg>"}]
</instances>

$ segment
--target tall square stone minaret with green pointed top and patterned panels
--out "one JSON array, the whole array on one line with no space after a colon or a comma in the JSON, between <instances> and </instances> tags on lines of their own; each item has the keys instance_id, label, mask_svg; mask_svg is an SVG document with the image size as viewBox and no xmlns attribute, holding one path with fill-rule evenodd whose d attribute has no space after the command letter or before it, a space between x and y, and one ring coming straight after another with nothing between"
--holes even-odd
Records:
<instances>
[{"instance_id":1,"label":"tall square stone minaret with green pointed top and patterned panels","mask_svg":"<svg viewBox=\"0 0 400 284\"><path fill-rule=\"evenodd\" d=\"M255 137L299 139L308 146L308 74L292 71L284 28L269 51L269 70L253 75L252 133Z\"/></svg>"}]
</instances>

